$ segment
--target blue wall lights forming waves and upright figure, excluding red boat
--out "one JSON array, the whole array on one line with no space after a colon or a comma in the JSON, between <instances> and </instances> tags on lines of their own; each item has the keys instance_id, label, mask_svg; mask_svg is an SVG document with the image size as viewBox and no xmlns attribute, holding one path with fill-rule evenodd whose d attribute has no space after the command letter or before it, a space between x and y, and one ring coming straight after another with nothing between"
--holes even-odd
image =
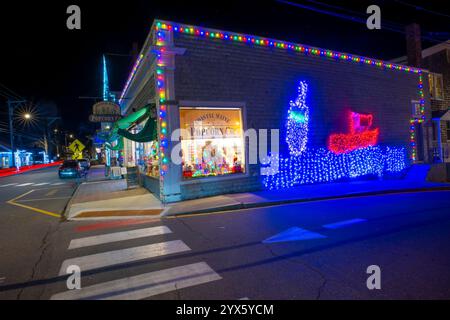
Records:
<instances>
[{"instance_id":1,"label":"blue wall lights forming waves and upright figure, excluding red boat","mask_svg":"<svg viewBox=\"0 0 450 320\"><path fill-rule=\"evenodd\" d=\"M263 178L263 184L267 189L284 189L367 175L381 177L387 173L401 172L408 166L404 147L376 145L340 154L326 148L307 147L308 129L299 125L306 123L307 126L309 121L309 109L305 104L307 88L307 84L301 81L296 103L290 103L286 137L290 154L271 154L270 162L264 165L267 175ZM300 115L292 115L292 111L300 105ZM278 163L278 166L274 163Z\"/></svg>"}]
</instances>

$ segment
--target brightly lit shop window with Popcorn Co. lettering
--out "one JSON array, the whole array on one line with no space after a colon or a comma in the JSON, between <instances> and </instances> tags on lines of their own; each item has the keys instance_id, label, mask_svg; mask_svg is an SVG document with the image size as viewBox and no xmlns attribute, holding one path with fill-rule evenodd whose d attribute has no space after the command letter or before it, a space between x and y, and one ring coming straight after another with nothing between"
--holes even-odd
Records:
<instances>
[{"instance_id":1,"label":"brightly lit shop window with Popcorn Co. lettering","mask_svg":"<svg viewBox=\"0 0 450 320\"><path fill-rule=\"evenodd\" d=\"M183 178L244 173L240 108L180 108Z\"/></svg>"}]
</instances>

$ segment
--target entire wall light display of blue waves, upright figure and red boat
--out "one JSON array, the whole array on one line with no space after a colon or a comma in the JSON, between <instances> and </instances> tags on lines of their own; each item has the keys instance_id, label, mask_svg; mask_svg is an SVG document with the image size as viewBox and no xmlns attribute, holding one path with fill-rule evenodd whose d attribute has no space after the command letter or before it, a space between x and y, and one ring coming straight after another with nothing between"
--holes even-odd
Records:
<instances>
[{"instance_id":1,"label":"entire wall light display of blue waves, upright figure and red boat","mask_svg":"<svg viewBox=\"0 0 450 320\"><path fill-rule=\"evenodd\" d=\"M286 120L289 155L271 154L264 165L263 184L268 189L330 182L367 175L398 173L408 166L406 149L378 145L379 129L370 114L349 113L349 129L328 137L328 148L308 146L310 110L308 85L301 81Z\"/></svg>"}]
</instances>

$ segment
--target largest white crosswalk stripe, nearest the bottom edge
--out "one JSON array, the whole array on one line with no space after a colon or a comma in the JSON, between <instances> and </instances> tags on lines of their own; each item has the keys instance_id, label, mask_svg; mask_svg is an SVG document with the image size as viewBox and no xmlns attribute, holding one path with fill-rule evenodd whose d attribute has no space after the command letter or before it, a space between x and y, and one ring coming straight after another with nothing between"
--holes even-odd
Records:
<instances>
[{"instance_id":1,"label":"largest white crosswalk stripe, nearest the bottom edge","mask_svg":"<svg viewBox=\"0 0 450 320\"><path fill-rule=\"evenodd\" d=\"M199 262L65 291L50 299L138 300L220 279L205 262Z\"/></svg>"}]
</instances>

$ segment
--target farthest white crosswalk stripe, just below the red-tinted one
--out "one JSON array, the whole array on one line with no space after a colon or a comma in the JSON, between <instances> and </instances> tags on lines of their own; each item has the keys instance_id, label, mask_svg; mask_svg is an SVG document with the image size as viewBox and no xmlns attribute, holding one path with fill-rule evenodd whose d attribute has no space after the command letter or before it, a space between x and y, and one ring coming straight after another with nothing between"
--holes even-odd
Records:
<instances>
[{"instance_id":1,"label":"farthest white crosswalk stripe, just below the red-tinted one","mask_svg":"<svg viewBox=\"0 0 450 320\"><path fill-rule=\"evenodd\" d=\"M82 248L82 247L95 246L95 245L99 245L99 244L111 243L111 242L118 242L118 241L124 241L124 240L157 236L157 235L167 234L167 233L171 233L171 232L172 231L169 228L167 228L166 226L158 226L158 227L152 227L152 228L122 231L122 232L108 233L108 234L102 234L102 235L92 236L92 237L73 239L72 241L70 241L69 250L76 249L76 248Z\"/></svg>"}]
</instances>

